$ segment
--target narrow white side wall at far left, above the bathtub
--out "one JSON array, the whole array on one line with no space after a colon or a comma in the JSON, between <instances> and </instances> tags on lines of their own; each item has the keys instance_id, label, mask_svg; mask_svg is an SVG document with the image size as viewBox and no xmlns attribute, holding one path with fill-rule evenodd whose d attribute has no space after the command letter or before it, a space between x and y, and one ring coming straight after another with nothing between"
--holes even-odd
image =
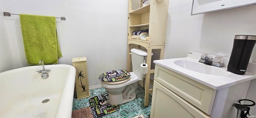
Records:
<instances>
[{"instance_id":1,"label":"narrow white side wall at far left, above the bathtub","mask_svg":"<svg viewBox=\"0 0 256 118\"><path fill-rule=\"evenodd\" d=\"M0 16L3 16L1 1ZM14 69L12 52L6 31L6 22L3 17L0 17L0 72L10 69Z\"/></svg>"}]
</instances>

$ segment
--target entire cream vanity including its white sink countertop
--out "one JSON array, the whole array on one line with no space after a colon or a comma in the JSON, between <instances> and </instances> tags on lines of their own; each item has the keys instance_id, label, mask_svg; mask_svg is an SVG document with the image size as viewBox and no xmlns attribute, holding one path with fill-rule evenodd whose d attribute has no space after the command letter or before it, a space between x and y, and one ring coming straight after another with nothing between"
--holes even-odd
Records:
<instances>
[{"instance_id":1,"label":"entire cream vanity including its white sink countertop","mask_svg":"<svg viewBox=\"0 0 256 118\"><path fill-rule=\"evenodd\" d=\"M237 75L227 71L228 58L223 67L214 67L199 63L201 54L189 51L188 57L154 60L150 118L236 118L232 105L250 94L256 63L249 62L246 73Z\"/></svg>"}]
</instances>

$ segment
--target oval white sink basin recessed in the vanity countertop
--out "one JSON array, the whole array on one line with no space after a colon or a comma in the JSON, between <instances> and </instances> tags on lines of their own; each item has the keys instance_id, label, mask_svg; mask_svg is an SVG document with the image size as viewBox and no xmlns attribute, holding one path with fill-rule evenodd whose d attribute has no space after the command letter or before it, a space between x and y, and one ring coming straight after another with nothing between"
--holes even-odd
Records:
<instances>
[{"instance_id":1,"label":"oval white sink basin recessed in the vanity countertop","mask_svg":"<svg viewBox=\"0 0 256 118\"><path fill-rule=\"evenodd\" d=\"M188 69L190 71L208 74L208 75L218 75L218 76L227 76L230 75L230 72L225 71L224 69L220 69L219 67L214 67L211 65L206 65L204 63L187 61L187 60L177 60L174 61L174 64L182 67L184 69Z\"/></svg>"}]
</instances>

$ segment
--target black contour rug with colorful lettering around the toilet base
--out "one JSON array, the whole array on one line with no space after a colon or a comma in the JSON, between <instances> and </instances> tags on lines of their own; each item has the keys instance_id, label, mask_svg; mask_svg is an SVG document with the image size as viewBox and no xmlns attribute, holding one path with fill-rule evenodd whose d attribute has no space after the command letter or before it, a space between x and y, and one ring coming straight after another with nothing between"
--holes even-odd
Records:
<instances>
[{"instance_id":1,"label":"black contour rug with colorful lettering around the toilet base","mask_svg":"<svg viewBox=\"0 0 256 118\"><path fill-rule=\"evenodd\" d=\"M111 114L120 110L118 105L111 105L107 103L108 94L102 94L98 96L94 96L89 99L92 115L94 118L98 118L101 116L105 116L107 114Z\"/></svg>"}]
</instances>

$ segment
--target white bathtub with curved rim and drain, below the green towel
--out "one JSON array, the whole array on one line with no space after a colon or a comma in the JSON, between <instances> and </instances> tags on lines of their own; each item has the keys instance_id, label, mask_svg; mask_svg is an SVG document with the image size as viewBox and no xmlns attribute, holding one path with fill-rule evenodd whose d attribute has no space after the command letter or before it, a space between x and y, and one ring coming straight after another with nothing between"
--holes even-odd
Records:
<instances>
[{"instance_id":1,"label":"white bathtub with curved rim and drain, below the green towel","mask_svg":"<svg viewBox=\"0 0 256 118\"><path fill-rule=\"evenodd\" d=\"M48 79L36 72L42 65L0 73L0 118L71 118L76 69L44 67L51 70Z\"/></svg>"}]
</instances>

